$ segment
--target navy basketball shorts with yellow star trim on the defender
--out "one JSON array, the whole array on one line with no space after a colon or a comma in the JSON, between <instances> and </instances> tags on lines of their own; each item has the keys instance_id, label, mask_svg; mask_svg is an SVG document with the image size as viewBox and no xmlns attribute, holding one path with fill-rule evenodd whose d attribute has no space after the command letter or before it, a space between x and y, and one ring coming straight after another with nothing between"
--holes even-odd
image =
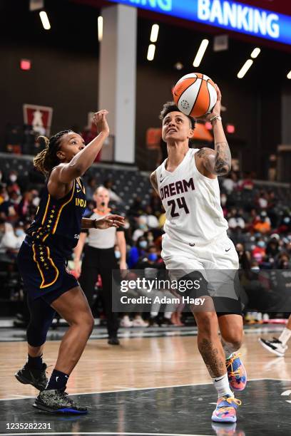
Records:
<instances>
[{"instance_id":1,"label":"navy basketball shorts with yellow star trim on the defender","mask_svg":"<svg viewBox=\"0 0 291 436\"><path fill-rule=\"evenodd\" d=\"M66 268L66 259L44 244L24 241L17 256L17 264L24 289L32 300L42 298L51 304L66 291L79 286Z\"/></svg>"}]
</instances>

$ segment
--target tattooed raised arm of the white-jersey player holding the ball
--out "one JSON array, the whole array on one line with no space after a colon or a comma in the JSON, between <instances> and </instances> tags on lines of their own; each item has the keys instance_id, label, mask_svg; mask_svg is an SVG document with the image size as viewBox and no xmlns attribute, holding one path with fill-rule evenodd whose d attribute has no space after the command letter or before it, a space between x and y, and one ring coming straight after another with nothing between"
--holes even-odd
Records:
<instances>
[{"instance_id":1,"label":"tattooed raised arm of the white-jersey player holding the ball","mask_svg":"<svg viewBox=\"0 0 291 436\"><path fill-rule=\"evenodd\" d=\"M203 118L210 121L213 125L215 149L201 148L197 154L199 159L202 160L205 169L211 174L226 175L230 172L231 168L231 153L223 130L223 123L221 122L221 93L217 85L216 90L218 91L218 100L213 108L213 112Z\"/></svg>"}]
</instances>

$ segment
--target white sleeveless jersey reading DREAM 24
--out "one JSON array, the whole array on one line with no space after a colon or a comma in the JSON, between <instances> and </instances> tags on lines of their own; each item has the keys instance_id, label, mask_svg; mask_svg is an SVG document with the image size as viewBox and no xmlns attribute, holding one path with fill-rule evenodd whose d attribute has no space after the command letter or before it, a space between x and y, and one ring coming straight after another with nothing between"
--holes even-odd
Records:
<instances>
[{"instance_id":1,"label":"white sleeveless jersey reading DREAM 24","mask_svg":"<svg viewBox=\"0 0 291 436\"><path fill-rule=\"evenodd\" d=\"M220 206L218 179L202 175L190 148L173 172L164 162L155 170L158 192L165 209L165 233L188 244L207 243L228 229Z\"/></svg>"}]
</instances>

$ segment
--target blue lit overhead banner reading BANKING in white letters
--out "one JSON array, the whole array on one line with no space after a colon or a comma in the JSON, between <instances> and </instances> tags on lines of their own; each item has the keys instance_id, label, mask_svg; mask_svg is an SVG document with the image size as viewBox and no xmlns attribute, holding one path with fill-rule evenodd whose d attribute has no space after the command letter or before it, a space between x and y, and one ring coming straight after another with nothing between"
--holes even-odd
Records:
<instances>
[{"instance_id":1,"label":"blue lit overhead banner reading BANKING in white letters","mask_svg":"<svg viewBox=\"0 0 291 436\"><path fill-rule=\"evenodd\" d=\"M230 0L109 0L291 44L291 16ZM290 0L286 0L290 1Z\"/></svg>"}]
</instances>

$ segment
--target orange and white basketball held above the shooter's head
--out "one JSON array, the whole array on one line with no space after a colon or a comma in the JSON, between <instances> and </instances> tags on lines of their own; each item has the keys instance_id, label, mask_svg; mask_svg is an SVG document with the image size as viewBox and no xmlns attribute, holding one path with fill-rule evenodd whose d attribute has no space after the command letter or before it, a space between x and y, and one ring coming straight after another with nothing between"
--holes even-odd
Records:
<instances>
[{"instance_id":1,"label":"orange and white basketball held above the shooter's head","mask_svg":"<svg viewBox=\"0 0 291 436\"><path fill-rule=\"evenodd\" d=\"M175 105L185 115L198 118L210 113L218 100L215 83L205 74L190 73L173 89Z\"/></svg>"}]
</instances>

